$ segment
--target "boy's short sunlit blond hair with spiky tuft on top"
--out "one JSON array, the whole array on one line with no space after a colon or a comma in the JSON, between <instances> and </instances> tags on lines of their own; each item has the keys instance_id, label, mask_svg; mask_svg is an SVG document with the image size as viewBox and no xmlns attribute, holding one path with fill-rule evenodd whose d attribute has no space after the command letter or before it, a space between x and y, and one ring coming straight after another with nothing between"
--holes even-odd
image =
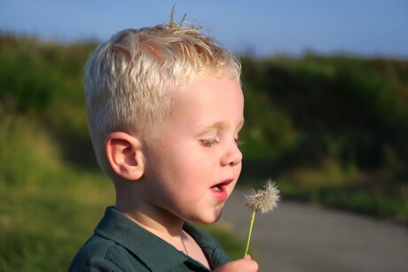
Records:
<instances>
[{"instance_id":1,"label":"boy's short sunlit blond hair with spiky tuft on top","mask_svg":"<svg viewBox=\"0 0 408 272\"><path fill-rule=\"evenodd\" d=\"M239 81L239 60L203 32L171 16L168 25L122 30L92 53L85 97L90 137L105 172L110 133L131 132L153 143L181 86L208 75Z\"/></svg>"}]
</instances>

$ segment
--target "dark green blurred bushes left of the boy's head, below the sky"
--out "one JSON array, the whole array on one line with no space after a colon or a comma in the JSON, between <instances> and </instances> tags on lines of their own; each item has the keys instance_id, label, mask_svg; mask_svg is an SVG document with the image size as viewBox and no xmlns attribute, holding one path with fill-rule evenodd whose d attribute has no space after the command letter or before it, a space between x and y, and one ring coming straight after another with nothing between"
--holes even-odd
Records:
<instances>
[{"instance_id":1,"label":"dark green blurred bushes left of the boy's head, below the sky","mask_svg":"<svg viewBox=\"0 0 408 272\"><path fill-rule=\"evenodd\" d=\"M96 167L88 135L83 66L96 43L42 43L0 33L0 111L35 116L63 156Z\"/></svg>"}]
</instances>

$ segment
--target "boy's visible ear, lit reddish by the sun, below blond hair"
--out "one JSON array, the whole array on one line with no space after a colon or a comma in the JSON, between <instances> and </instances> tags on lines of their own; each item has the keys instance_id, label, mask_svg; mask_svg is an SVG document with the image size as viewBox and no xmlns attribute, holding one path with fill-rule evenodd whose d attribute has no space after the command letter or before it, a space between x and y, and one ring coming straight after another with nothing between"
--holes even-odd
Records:
<instances>
[{"instance_id":1,"label":"boy's visible ear, lit reddish by the sun, below blond hair","mask_svg":"<svg viewBox=\"0 0 408 272\"><path fill-rule=\"evenodd\" d=\"M142 144L135 136L114 132L106 139L106 156L117 175L136 181L145 171Z\"/></svg>"}]
</instances>

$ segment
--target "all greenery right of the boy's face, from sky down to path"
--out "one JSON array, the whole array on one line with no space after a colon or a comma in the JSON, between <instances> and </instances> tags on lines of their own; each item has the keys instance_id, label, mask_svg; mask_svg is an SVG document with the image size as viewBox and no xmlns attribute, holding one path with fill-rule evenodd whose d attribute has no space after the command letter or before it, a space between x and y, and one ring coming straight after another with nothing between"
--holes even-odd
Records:
<instances>
[{"instance_id":1,"label":"all greenery right of the boy's face, from sky down to path","mask_svg":"<svg viewBox=\"0 0 408 272\"><path fill-rule=\"evenodd\" d=\"M408 61L242 58L246 180L284 196L408 219Z\"/></svg>"}]
</instances>

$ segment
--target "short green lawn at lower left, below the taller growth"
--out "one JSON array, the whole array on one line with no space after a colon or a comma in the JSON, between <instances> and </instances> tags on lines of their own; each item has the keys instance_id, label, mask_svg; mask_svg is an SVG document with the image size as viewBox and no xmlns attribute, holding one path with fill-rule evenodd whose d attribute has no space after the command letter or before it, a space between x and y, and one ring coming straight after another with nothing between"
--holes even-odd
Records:
<instances>
[{"instance_id":1,"label":"short green lawn at lower left, below the taller growth","mask_svg":"<svg viewBox=\"0 0 408 272\"><path fill-rule=\"evenodd\" d=\"M58 185L2 188L0 270L66 270L90 237L110 202L109 183L98 175L65 174Z\"/></svg>"}]
</instances>

